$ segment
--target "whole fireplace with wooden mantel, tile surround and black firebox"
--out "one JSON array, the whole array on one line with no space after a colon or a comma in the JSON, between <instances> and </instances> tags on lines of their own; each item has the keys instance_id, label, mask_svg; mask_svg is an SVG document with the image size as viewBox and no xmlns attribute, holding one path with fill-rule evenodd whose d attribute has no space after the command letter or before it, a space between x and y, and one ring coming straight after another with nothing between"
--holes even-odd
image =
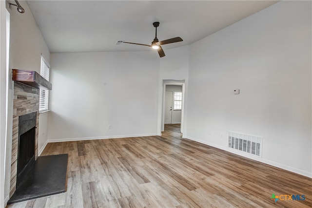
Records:
<instances>
[{"instance_id":1,"label":"whole fireplace with wooden mantel, tile surround and black firebox","mask_svg":"<svg viewBox=\"0 0 312 208\"><path fill-rule=\"evenodd\" d=\"M10 198L17 186L23 184L21 181L30 173L28 168L32 168L32 164L35 164L38 158L39 89L52 90L52 84L35 71L13 69L12 80L14 87Z\"/></svg>"}]
</instances>

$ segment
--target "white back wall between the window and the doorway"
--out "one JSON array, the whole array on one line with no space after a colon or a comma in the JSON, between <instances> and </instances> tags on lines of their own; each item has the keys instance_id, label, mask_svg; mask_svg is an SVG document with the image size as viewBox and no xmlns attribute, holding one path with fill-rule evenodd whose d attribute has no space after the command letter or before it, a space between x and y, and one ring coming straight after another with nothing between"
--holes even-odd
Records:
<instances>
[{"instance_id":1,"label":"white back wall between the window and the doorway","mask_svg":"<svg viewBox=\"0 0 312 208\"><path fill-rule=\"evenodd\" d=\"M51 54L49 141L156 135L153 52Z\"/></svg>"}]
</instances>

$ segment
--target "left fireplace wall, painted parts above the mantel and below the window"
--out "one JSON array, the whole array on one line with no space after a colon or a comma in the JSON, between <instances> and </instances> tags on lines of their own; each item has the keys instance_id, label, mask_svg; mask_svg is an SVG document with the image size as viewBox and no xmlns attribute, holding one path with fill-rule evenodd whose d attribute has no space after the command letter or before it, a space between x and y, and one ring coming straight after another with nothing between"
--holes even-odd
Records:
<instances>
[{"instance_id":1,"label":"left fireplace wall, painted parts above the mantel and below the window","mask_svg":"<svg viewBox=\"0 0 312 208\"><path fill-rule=\"evenodd\" d=\"M45 43L39 27L26 1L21 1L25 13L20 14L15 6L11 6L10 16L10 69L36 71L40 74L41 54L50 63L50 51ZM12 86L12 80L10 86ZM53 86L52 86L53 88ZM10 92L12 93L12 92ZM11 105L9 105L11 106ZM39 117L40 151L47 142L47 114ZM42 124L42 125L40 125Z\"/></svg>"}]
</instances>

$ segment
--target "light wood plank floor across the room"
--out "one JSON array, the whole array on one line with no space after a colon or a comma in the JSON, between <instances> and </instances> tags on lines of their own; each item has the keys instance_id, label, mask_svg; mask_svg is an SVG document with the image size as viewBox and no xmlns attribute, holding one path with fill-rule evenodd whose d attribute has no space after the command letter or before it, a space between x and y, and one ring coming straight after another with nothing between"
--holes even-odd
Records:
<instances>
[{"instance_id":1,"label":"light wood plank floor across the room","mask_svg":"<svg viewBox=\"0 0 312 208\"><path fill-rule=\"evenodd\" d=\"M162 136L49 143L41 155L61 153L67 192L9 208L312 207L312 179L181 139L179 125Z\"/></svg>"}]
</instances>

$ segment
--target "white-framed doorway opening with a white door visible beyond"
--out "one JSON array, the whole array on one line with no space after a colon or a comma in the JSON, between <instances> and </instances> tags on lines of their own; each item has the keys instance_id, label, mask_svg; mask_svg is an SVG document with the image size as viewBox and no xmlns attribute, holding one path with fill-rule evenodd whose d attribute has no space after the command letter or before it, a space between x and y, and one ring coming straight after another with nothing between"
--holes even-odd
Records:
<instances>
[{"instance_id":1,"label":"white-framed doorway opening with a white door visible beyond","mask_svg":"<svg viewBox=\"0 0 312 208\"><path fill-rule=\"evenodd\" d=\"M165 124L180 124L183 133L184 80L163 80L161 132Z\"/></svg>"}]
</instances>

